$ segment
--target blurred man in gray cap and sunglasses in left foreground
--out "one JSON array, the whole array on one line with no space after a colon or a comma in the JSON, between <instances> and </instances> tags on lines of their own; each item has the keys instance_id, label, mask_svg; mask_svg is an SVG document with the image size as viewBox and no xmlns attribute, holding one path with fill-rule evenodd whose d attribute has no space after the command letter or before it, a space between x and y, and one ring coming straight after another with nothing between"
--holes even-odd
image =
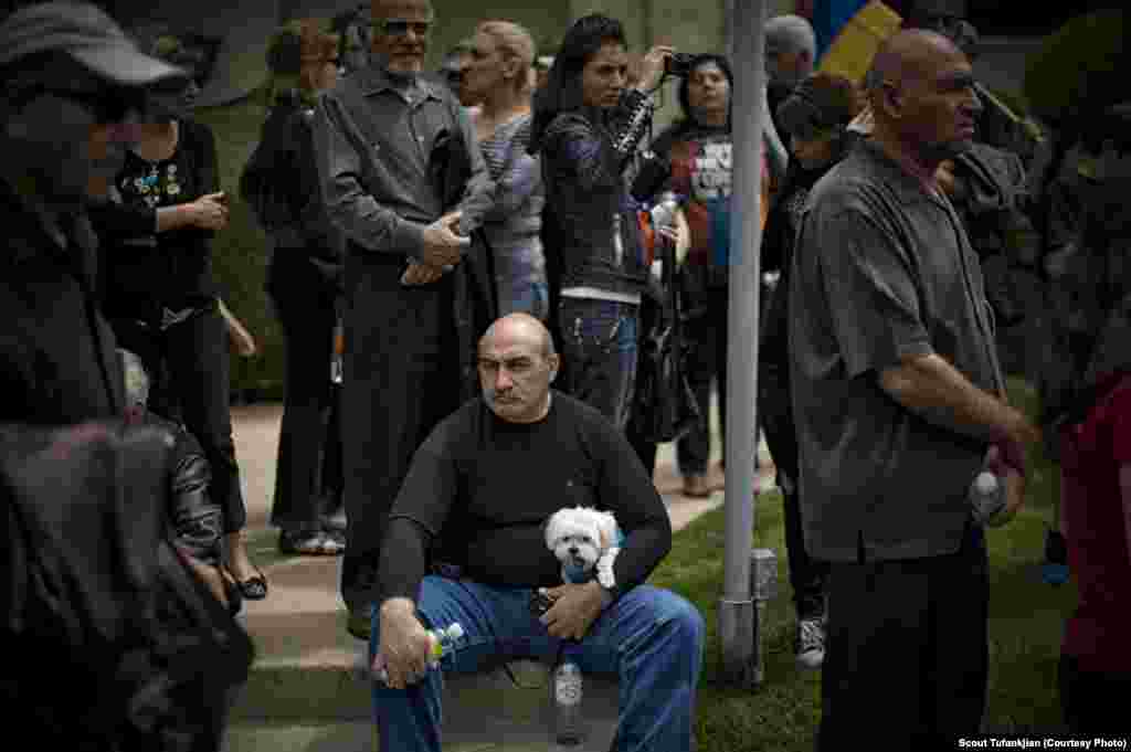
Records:
<instances>
[{"instance_id":1,"label":"blurred man in gray cap and sunglasses in left foreground","mask_svg":"<svg viewBox=\"0 0 1131 752\"><path fill-rule=\"evenodd\" d=\"M176 78L92 5L29 6L0 25L0 422L121 413L86 197L121 166L145 87Z\"/></svg>"}]
</instances>

